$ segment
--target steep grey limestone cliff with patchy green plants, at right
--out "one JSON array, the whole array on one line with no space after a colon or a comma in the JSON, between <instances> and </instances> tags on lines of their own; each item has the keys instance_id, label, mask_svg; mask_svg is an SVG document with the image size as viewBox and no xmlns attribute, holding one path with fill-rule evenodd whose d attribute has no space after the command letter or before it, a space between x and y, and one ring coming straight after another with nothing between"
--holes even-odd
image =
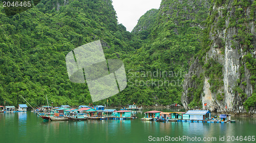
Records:
<instances>
[{"instance_id":1,"label":"steep grey limestone cliff with patchy green plants, at right","mask_svg":"<svg viewBox=\"0 0 256 143\"><path fill-rule=\"evenodd\" d=\"M251 71L247 69L244 56L251 54L252 58L256 58L255 2L243 2L231 0L226 4L211 4L206 20L209 42L204 42L205 49L191 64L184 79L181 101L186 109L193 108L193 104L198 101L202 109L211 111L256 113L255 106L246 111L243 104L253 93ZM217 87L212 83L217 80L213 77L217 76L206 74L210 68L206 64L210 59L222 66L218 75L221 84ZM196 79L200 82L196 82ZM194 100L197 98L196 92L200 93L197 101Z\"/></svg>"}]
</instances>

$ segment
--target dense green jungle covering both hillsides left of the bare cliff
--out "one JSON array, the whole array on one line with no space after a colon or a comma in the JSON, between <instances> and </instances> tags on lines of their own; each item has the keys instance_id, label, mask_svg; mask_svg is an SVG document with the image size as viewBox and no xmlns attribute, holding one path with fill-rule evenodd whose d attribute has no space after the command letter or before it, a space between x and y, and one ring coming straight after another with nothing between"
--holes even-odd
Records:
<instances>
[{"instance_id":1,"label":"dense green jungle covering both hillsides left of the bare cliff","mask_svg":"<svg viewBox=\"0 0 256 143\"><path fill-rule=\"evenodd\" d=\"M6 16L0 4L0 105L92 103L87 84L69 80L65 56L101 40L106 59L124 63L127 87L109 105L181 104L182 81L202 49L210 1L163 0L133 32L118 24L111 0L42 0ZM212 89L214 90L214 89ZM96 104L106 104L106 99ZM250 103L248 103L250 104Z\"/></svg>"}]
</instances>

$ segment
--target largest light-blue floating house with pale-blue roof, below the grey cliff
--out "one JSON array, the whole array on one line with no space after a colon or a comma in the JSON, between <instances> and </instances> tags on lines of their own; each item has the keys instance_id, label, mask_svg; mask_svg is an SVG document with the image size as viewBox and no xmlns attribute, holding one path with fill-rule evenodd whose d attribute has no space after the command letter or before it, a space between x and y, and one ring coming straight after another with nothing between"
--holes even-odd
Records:
<instances>
[{"instance_id":1,"label":"largest light-blue floating house with pale-blue roof, below the grey cliff","mask_svg":"<svg viewBox=\"0 0 256 143\"><path fill-rule=\"evenodd\" d=\"M183 120L210 120L209 110L188 110L183 114Z\"/></svg>"}]
</instances>

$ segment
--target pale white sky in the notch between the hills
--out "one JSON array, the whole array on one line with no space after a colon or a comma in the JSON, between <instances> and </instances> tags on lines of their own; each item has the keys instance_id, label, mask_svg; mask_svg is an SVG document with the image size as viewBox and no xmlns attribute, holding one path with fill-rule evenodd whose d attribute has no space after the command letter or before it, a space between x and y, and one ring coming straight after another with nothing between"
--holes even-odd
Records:
<instances>
[{"instance_id":1,"label":"pale white sky in the notch between the hills","mask_svg":"<svg viewBox=\"0 0 256 143\"><path fill-rule=\"evenodd\" d=\"M127 31L132 31L139 18L148 10L158 9L161 0L112 0L117 13L117 20Z\"/></svg>"}]
</instances>

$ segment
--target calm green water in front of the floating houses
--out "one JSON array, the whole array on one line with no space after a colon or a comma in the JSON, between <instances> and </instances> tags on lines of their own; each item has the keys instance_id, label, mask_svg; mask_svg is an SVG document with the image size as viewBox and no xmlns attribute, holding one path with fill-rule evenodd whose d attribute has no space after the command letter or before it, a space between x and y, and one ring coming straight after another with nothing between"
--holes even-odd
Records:
<instances>
[{"instance_id":1,"label":"calm green water in front of the floating houses","mask_svg":"<svg viewBox=\"0 0 256 143\"><path fill-rule=\"evenodd\" d=\"M141 118L143 113L137 112L137 116ZM0 113L0 140L1 142L205 142L203 137L206 139L216 137L216 140L206 142L256 142L252 139L251 141L244 140L248 136L255 136L255 118L232 117L231 119L237 122L227 124L163 123L139 119L44 122L36 116L36 113L30 111ZM169 140L166 140L166 136L170 137ZM179 136L188 136L190 141L186 139L172 141L172 137ZM220 141L220 136L225 136L225 141ZM228 136L230 136L230 141L227 141ZM239 138L243 136L243 141L232 141L237 136ZM153 141L157 137L162 137L162 141ZM200 137L201 141L191 141L195 137L197 139Z\"/></svg>"}]
</instances>

